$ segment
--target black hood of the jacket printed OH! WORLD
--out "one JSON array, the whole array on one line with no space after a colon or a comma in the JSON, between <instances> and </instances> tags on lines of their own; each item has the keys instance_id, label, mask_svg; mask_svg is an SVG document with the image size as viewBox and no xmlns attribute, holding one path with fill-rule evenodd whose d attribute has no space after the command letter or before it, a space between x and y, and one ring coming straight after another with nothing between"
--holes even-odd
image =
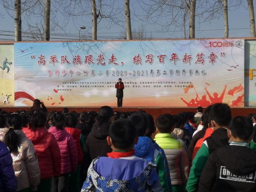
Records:
<instances>
[{"instance_id":1,"label":"black hood of the jacket printed OH! WORLD","mask_svg":"<svg viewBox=\"0 0 256 192\"><path fill-rule=\"evenodd\" d=\"M217 154L221 163L233 174L247 175L255 172L256 153L250 148L227 146L220 149Z\"/></svg>"}]
</instances>

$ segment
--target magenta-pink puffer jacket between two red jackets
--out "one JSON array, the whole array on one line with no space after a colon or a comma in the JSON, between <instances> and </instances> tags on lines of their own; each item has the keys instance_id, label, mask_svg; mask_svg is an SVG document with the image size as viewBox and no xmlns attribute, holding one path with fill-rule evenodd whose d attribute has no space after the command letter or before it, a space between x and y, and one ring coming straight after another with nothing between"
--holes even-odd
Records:
<instances>
[{"instance_id":1,"label":"magenta-pink puffer jacket between two red jackets","mask_svg":"<svg viewBox=\"0 0 256 192\"><path fill-rule=\"evenodd\" d=\"M65 129L59 130L56 127L50 127L48 131L55 136L60 148L61 174L74 173L78 165L75 140Z\"/></svg>"}]
</instances>

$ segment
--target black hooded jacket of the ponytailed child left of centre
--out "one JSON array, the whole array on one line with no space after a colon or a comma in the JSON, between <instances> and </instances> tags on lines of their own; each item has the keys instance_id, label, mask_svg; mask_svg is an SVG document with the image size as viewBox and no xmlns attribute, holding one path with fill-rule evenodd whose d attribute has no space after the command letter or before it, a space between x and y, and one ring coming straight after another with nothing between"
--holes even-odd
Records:
<instances>
[{"instance_id":1,"label":"black hooded jacket of the ponytailed child left of centre","mask_svg":"<svg viewBox=\"0 0 256 192\"><path fill-rule=\"evenodd\" d=\"M111 122L104 122L101 125L94 123L91 133L85 142L84 161L86 172L93 159L98 156L107 157L107 153L112 151L106 139L109 135L110 124Z\"/></svg>"}]
</instances>

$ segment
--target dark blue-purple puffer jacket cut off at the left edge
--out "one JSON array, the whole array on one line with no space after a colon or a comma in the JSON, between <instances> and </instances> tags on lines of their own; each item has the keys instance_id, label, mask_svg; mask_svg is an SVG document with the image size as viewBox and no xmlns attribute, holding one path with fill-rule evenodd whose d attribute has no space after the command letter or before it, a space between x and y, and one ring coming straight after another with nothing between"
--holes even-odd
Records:
<instances>
[{"instance_id":1,"label":"dark blue-purple puffer jacket cut off at the left edge","mask_svg":"<svg viewBox=\"0 0 256 192\"><path fill-rule=\"evenodd\" d=\"M0 192L14 192L17 189L12 163L13 159L8 148L0 141Z\"/></svg>"}]
</instances>

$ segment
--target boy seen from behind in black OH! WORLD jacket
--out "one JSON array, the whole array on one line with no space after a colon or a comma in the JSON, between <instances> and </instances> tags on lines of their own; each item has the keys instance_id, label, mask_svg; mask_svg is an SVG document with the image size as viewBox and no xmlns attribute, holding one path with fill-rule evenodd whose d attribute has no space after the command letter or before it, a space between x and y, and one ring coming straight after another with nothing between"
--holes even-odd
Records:
<instances>
[{"instance_id":1,"label":"boy seen from behind in black OH! WORLD jacket","mask_svg":"<svg viewBox=\"0 0 256 192\"><path fill-rule=\"evenodd\" d=\"M231 143L210 154L198 192L256 191L256 152L249 147L252 132L250 118L237 116L231 121Z\"/></svg>"}]
</instances>

